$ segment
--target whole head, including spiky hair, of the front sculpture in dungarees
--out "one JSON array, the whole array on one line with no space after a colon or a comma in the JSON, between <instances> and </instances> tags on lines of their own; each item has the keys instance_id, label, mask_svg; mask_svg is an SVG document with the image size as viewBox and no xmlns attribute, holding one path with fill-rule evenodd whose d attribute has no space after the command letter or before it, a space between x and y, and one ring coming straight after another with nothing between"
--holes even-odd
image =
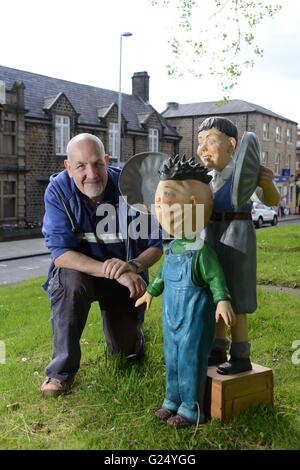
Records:
<instances>
[{"instance_id":1,"label":"whole head, including spiky hair, of the front sculpture in dungarees","mask_svg":"<svg viewBox=\"0 0 300 470\"><path fill-rule=\"evenodd\" d=\"M208 224L212 212L211 176L195 158L169 158L159 171L155 213L162 228L176 238L191 238Z\"/></svg>"}]
</instances>

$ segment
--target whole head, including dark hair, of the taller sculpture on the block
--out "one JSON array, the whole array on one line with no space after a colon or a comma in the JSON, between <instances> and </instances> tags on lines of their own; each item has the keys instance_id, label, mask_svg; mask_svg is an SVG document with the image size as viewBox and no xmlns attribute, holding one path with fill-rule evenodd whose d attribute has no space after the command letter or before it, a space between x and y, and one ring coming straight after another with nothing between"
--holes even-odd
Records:
<instances>
[{"instance_id":1,"label":"whole head, including dark hair, of the taller sculpture on the block","mask_svg":"<svg viewBox=\"0 0 300 470\"><path fill-rule=\"evenodd\" d=\"M222 171L230 162L237 141L233 122L222 117L207 118L198 129L197 155L206 168Z\"/></svg>"}]
</instances>

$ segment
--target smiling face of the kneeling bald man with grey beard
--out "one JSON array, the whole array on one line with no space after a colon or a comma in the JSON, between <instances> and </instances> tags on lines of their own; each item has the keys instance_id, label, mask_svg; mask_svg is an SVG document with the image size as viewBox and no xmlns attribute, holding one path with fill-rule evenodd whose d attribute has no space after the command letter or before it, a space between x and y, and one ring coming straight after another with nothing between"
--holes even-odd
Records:
<instances>
[{"instance_id":1,"label":"smiling face of the kneeling bald man with grey beard","mask_svg":"<svg viewBox=\"0 0 300 470\"><path fill-rule=\"evenodd\" d=\"M64 162L77 188L90 199L101 196L107 184L107 160L101 158L97 146L81 140L71 146L69 160Z\"/></svg>"}]
</instances>

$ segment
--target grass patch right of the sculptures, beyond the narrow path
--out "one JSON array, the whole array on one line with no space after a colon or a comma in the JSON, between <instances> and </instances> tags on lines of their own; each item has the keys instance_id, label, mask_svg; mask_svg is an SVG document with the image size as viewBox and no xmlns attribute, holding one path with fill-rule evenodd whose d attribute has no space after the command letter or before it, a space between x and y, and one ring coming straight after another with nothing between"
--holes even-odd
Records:
<instances>
[{"instance_id":1,"label":"grass patch right of the sculptures, beyond the narrow path","mask_svg":"<svg viewBox=\"0 0 300 470\"><path fill-rule=\"evenodd\" d=\"M257 281L300 287L300 225L256 230Z\"/></svg>"}]
</instances>

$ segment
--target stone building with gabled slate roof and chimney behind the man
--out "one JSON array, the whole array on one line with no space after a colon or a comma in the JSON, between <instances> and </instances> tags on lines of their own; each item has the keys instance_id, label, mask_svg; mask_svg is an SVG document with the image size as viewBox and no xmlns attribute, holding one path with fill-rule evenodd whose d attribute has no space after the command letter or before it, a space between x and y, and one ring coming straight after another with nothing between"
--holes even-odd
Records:
<instances>
[{"instance_id":1,"label":"stone building with gabled slate roof and chimney behind the man","mask_svg":"<svg viewBox=\"0 0 300 470\"><path fill-rule=\"evenodd\" d=\"M0 225L38 224L45 186L63 169L71 137L90 132L117 159L118 92L0 66ZM149 103L147 72L122 94L121 161L178 152L178 133Z\"/></svg>"}]
</instances>

